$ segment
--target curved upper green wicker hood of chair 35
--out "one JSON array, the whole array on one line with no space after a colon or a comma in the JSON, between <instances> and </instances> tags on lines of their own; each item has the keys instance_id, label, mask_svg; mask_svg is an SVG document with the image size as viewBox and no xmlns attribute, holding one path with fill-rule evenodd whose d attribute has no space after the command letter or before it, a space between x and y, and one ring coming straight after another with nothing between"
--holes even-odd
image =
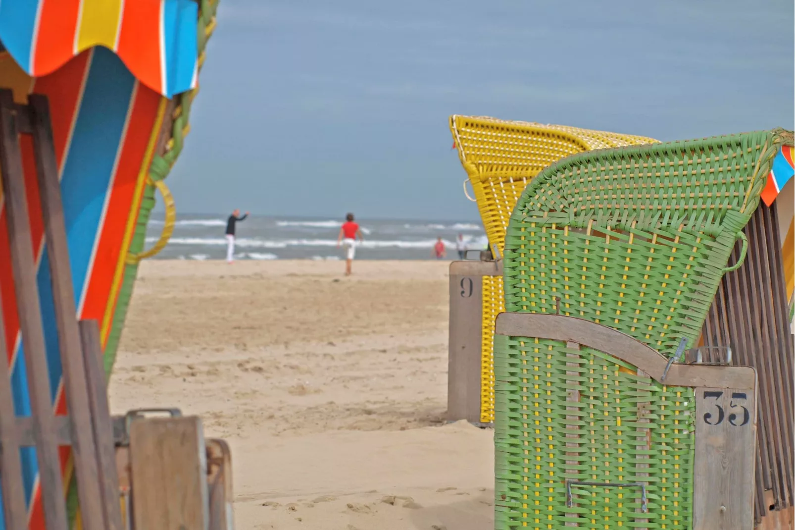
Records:
<instances>
[{"instance_id":1,"label":"curved upper green wicker hood of chair 35","mask_svg":"<svg viewBox=\"0 0 795 530\"><path fill-rule=\"evenodd\" d=\"M774 131L599 150L525 189L506 237L506 309L560 312L673 353L701 331L758 205Z\"/></svg>"}]
</instances>

